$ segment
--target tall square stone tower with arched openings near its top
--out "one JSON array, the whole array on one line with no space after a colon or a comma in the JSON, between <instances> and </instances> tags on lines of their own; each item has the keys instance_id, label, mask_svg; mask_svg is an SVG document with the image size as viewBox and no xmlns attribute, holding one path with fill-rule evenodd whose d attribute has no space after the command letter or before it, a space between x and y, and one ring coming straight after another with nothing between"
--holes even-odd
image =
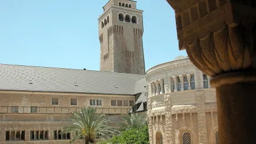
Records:
<instances>
[{"instance_id":1,"label":"tall square stone tower with arched openings near its top","mask_svg":"<svg viewBox=\"0 0 256 144\"><path fill-rule=\"evenodd\" d=\"M145 74L142 12L136 2L110 0L99 20L100 70Z\"/></svg>"}]
</instances>

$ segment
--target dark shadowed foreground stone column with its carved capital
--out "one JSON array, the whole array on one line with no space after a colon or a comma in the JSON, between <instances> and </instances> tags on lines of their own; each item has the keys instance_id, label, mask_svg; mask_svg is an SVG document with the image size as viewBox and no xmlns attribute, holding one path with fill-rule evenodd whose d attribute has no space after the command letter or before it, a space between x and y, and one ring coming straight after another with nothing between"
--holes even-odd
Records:
<instances>
[{"instance_id":1,"label":"dark shadowed foreground stone column with its carved capital","mask_svg":"<svg viewBox=\"0 0 256 144\"><path fill-rule=\"evenodd\" d=\"M167 1L175 11L180 50L212 77L219 142L256 143L255 1Z\"/></svg>"}]
</instances>

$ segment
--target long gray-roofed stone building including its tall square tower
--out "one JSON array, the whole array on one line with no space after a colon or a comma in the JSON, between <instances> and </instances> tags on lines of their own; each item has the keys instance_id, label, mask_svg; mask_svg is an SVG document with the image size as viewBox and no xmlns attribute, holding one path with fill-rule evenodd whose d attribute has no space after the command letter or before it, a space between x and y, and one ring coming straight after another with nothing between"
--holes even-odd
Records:
<instances>
[{"instance_id":1,"label":"long gray-roofed stone building including its tall square tower","mask_svg":"<svg viewBox=\"0 0 256 144\"><path fill-rule=\"evenodd\" d=\"M0 64L0 144L69 143L75 133L59 133L81 107L96 107L112 126L122 122L147 91L142 24L135 1L104 6L101 71Z\"/></svg>"}]
</instances>

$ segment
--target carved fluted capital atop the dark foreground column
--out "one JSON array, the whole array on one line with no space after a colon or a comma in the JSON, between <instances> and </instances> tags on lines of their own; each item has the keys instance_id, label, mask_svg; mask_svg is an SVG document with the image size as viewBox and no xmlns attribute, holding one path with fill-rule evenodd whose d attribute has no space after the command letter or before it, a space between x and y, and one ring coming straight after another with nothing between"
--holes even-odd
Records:
<instances>
[{"instance_id":1,"label":"carved fluted capital atop the dark foreground column","mask_svg":"<svg viewBox=\"0 0 256 144\"><path fill-rule=\"evenodd\" d=\"M197 68L209 76L256 70L253 0L167 1L175 10L179 48Z\"/></svg>"}]
</instances>

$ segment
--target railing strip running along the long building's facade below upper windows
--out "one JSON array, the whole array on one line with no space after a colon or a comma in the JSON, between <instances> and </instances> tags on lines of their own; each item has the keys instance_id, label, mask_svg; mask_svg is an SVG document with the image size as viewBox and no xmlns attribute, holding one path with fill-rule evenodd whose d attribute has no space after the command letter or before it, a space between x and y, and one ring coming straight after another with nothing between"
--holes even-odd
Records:
<instances>
[{"instance_id":1,"label":"railing strip running along the long building's facade below upper windows","mask_svg":"<svg viewBox=\"0 0 256 144\"><path fill-rule=\"evenodd\" d=\"M12 114L73 114L82 107L37 107L37 106L0 106L0 113ZM127 114L130 109L96 107L96 114Z\"/></svg>"}]
</instances>

